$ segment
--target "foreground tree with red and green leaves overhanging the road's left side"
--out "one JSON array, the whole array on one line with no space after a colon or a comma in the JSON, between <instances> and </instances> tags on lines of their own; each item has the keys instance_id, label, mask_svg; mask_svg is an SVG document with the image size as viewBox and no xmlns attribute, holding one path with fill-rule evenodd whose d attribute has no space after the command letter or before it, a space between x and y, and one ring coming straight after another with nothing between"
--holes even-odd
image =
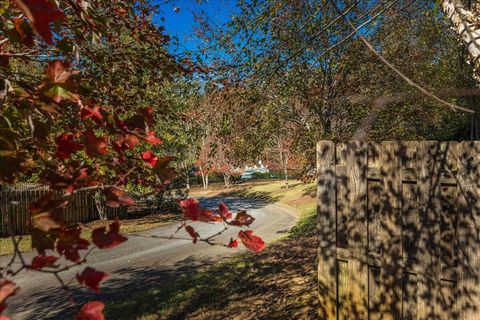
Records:
<instances>
[{"instance_id":1,"label":"foreground tree with red and green leaves overhanging the road's left side","mask_svg":"<svg viewBox=\"0 0 480 320\"><path fill-rule=\"evenodd\" d=\"M0 313L18 290L11 275L58 275L86 264L92 250L127 240L119 221L93 230L91 239L82 237L81 227L66 224L63 209L75 193L97 190L107 205L118 207L133 203L125 184L158 190L175 178L175 159L160 155L161 139L152 131L169 112L158 101L158 84L192 70L168 54L169 37L151 20L156 10L147 0L0 2L0 183L35 174L52 190L28 206L38 255L24 258L12 234L17 250L0 269ZM253 219L244 212L233 218L223 206L207 210L192 199L182 206L186 221L217 222L225 230ZM237 243L204 239L187 222L182 228L194 242ZM264 247L256 236L239 237L250 250ZM86 266L77 281L98 291L107 277ZM76 319L103 319L103 303L76 303Z\"/></svg>"}]
</instances>

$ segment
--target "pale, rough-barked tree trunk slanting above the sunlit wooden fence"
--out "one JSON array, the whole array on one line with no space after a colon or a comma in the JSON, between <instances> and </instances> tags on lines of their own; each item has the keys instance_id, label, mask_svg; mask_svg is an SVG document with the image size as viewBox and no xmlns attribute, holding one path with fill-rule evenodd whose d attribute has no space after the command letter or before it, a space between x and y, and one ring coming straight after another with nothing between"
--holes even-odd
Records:
<instances>
[{"instance_id":1,"label":"pale, rough-barked tree trunk slanting above the sunlit wooden fence","mask_svg":"<svg viewBox=\"0 0 480 320\"><path fill-rule=\"evenodd\" d=\"M465 44L474 63L475 79L480 82L480 12L465 8L461 0L443 0L442 9Z\"/></svg>"}]
</instances>

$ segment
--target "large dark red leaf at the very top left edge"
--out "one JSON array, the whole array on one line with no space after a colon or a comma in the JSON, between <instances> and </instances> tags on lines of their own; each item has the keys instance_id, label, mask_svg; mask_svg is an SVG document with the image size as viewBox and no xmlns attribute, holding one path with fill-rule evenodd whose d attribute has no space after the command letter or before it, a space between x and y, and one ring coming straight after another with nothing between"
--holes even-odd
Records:
<instances>
[{"instance_id":1,"label":"large dark red leaf at the very top left edge","mask_svg":"<svg viewBox=\"0 0 480 320\"><path fill-rule=\"evenodd\" d=\"M45 40L52 44L52 31L50 23L65 19L63 11L48 0L14 0L17 6L25 13L35 31Z\"/></svg>"}]
</instances>

